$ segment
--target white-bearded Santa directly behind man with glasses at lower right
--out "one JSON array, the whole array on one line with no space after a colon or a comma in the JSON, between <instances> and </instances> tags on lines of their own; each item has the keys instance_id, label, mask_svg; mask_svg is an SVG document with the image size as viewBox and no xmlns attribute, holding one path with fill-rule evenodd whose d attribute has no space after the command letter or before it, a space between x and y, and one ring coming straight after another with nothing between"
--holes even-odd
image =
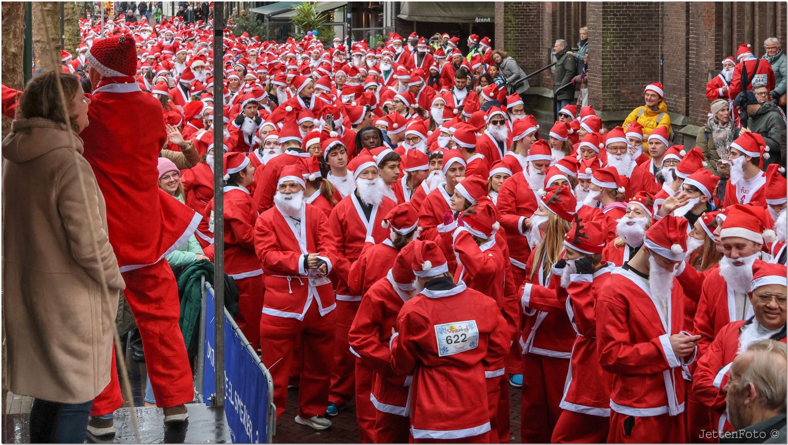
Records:
<instances>
[{"instance_id":1,"label":"white-bearded Santa directly behind man with glasses at lower right","mask_svg":"<svg viewBox=\"0 0 788 445\"><path fill-rule=\"evenodd\" d=\"M695 312L695 329L704 335L699 344L701 357L717 332L727 323L747 320L753 307L747 299L753 264L762 259L764 242L775 240L771 221L764 208L735 204L727 209L727 218L719 231L723 258L719 269L704 279L701 298ZM765 254L768 259L768 254Z\"/></svg>"}]
</instances>

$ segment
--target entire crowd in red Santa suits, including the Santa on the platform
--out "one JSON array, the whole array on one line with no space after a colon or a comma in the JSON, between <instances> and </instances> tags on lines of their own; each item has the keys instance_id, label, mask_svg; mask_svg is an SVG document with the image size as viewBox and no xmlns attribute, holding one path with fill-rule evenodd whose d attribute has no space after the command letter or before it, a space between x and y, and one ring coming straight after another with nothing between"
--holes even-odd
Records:
<instances>
[{"instance_id":1,"label":"entire crowd in red Santa suits, including the Santa on the platform","mask_svg":"<svg viewBox=\"0 0 788 445\"><path fill-rule=\"evenodd\" d=\"M212 25L80 20L65 67L89 80L84 156L165 421L193 393L162 259L195 235L214 260L219 175L236 321L277 418L322 430L355 400L364 443L507 443L512 386L523 443L730 430L730 363L786 338L785 160L763 136L738 133L712 170L671 143L659 83L621 126L567 105L547 129L482 80L500 60L486 37L469 56L448 35L345 47L230 24L215 66ZM727 62L733 95L752 61ZM16 97L4 88L4 111ZM160 155L185 205L158 189ZM122 402L114 378L91 432L113 432Z\"/></svg>"}]
</instances>

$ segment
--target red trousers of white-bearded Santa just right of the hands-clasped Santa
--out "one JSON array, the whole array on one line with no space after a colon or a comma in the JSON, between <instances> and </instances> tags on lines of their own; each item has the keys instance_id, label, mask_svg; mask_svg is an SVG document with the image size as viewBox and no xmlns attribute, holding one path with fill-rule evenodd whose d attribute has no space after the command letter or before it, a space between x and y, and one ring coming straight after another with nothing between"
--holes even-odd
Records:
<instances>
[{"instance_id":1,"label":"red trousers of white-bearded Santa just right of the hands-clasped Santa","mask_svg":"<svg viewBox=\"0 0 788 445\"><path fill-rule=\"evenodd\" d=\"M337 406L348 403L355 391L356 357L350 352L348 332L360 305L361 301L336 301L336 343L329 402L336 403ZM304 357L308 357L306 353Z\"/></svg>"}]
</instances>

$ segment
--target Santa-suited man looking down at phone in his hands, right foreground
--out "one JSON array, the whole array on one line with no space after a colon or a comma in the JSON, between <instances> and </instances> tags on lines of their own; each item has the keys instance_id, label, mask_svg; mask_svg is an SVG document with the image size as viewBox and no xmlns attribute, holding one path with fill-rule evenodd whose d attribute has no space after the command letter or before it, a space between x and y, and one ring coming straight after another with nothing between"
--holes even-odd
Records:
<instances>
[{"instance_id":1,"label":"Santa-suited man looking down at phone in his hands, right foreground","mask_svg":"<svg viewBox=\"0 0 788 445\"><path fill-rule=\"evenodd\" d=\"M683 443L683 368L701 335L683 331L685 298L675 286L686 255L686 219L666 216L616 267L597 301L600 363L611 372L608 443Z\"/></svg>"}]
</instances>

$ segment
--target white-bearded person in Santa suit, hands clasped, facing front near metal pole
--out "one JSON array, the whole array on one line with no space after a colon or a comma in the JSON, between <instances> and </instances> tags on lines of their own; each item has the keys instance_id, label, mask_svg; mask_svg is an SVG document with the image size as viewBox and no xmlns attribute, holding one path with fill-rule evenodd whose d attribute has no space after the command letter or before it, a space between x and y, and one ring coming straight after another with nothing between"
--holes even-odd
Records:
<instances>
[{"instance_id":1,"label":"white-bearded person in Santa suit, hands clasped, facing front near metal pole","mask_svg":"<svg viewBox=\"0 0 788 445\"><path fill-rule=\"evenodd\" d=\"M333 236L322 210L303 202L299 166L281 170L274 207L255 222L255 252L266 271L260 318L262 361L273 376L277 418L287 405L293 346L300 342L303 368L296 422L325 429L333 365L336 303L326 278L336 264Z\"/></svg>"}]
</instances>

